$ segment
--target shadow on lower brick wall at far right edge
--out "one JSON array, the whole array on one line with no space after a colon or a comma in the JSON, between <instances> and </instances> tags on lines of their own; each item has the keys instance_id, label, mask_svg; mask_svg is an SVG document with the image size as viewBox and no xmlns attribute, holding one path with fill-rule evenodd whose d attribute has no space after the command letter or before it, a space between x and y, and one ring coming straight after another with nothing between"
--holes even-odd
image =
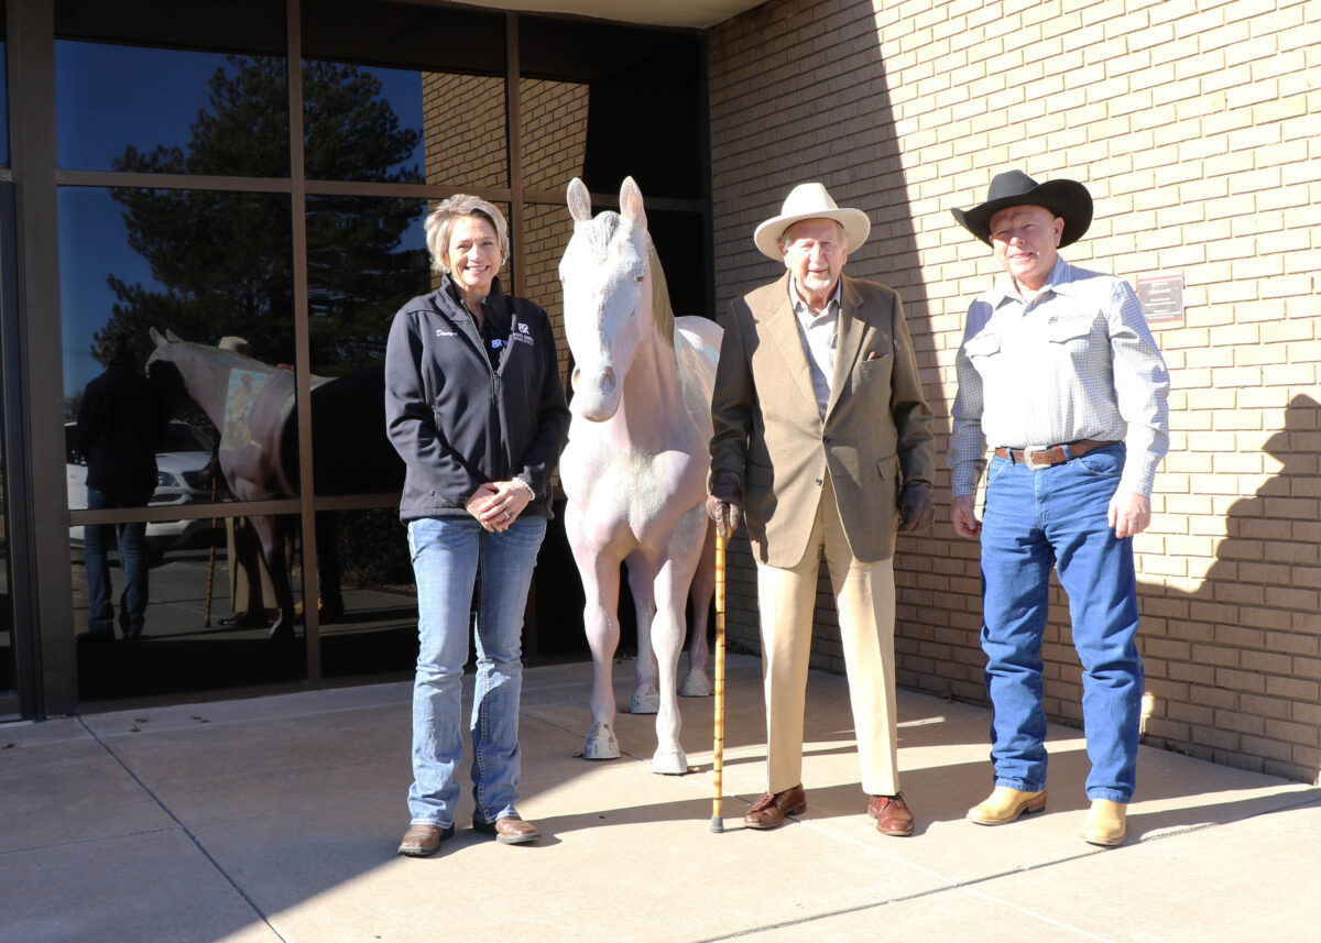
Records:
<instances>
[{"instance_id":1,"label":"shadow on lower brick wall at far right edge","mask_svg":"<svg viewBox=\"0 0 1321 943\"><path fill-rule=\"evenodd\" d=\"M1263 449L1283 468L1230 506L1198 589L1139 586L1139 641L1156 699L1144 742L1313 782L1321 765L1321 403L1295 396Z\"/></svg>"}]
</instances>

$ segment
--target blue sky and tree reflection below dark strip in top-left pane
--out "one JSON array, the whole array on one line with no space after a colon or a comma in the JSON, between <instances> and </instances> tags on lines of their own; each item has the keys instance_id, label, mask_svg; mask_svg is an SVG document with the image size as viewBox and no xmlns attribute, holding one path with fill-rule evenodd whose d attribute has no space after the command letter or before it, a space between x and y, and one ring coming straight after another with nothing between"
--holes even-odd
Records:
<instances>
[{"instance_id":1,"label":"blue sky and tree reflection below dark strip in top-left pane","mask_svg":"<svg viewBox=\"0 0 1321 943\"><path fill-rule=\"evenodd\" d=\"M57 158L66 170L289 173L285 61L55 44Z\"/></svg>"}]
</instances>

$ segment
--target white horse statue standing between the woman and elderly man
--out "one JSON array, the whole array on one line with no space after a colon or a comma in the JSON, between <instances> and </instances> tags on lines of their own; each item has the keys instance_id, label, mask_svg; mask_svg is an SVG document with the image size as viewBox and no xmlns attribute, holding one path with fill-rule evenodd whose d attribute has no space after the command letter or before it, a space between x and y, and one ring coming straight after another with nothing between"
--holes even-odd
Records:
<instances>
[{"instance_id":1,"label":"white horse statue standing between the woman and elderly man","mask_svg":"<svg viewBox=\"0 0 1321 943\"><path fill-rule=\"evenodd\" d=\"M631 177L620 189L620 213L593 219L590 195L576 177L568 206L573 238L560 260L560 281L575 361L573 419L560 482L594 666L584 755L620 755L610 668L620 645L624 563L638 617L630 712L657 715L651 770L678 775L687 773L688 759L679 746L676 693L711 693L707 609L715 592L715 541L703 502L723 329L701 317L674 316L642 192ZM690 585L690 672L676 692Z\"/></svg>"}]
</instances>

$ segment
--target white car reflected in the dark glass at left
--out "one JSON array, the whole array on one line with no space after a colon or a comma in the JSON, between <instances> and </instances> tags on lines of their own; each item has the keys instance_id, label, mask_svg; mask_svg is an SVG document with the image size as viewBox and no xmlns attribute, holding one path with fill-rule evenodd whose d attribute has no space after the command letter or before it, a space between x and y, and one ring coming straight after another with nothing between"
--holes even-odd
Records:
<instances>
[{"instance_id":1,"label":"white car reflected in the dark glass at left","mask_svg":"<svg viewBox=\"0 0 1321 943\"><path fill-rule=\"evenodd\" d=\"M156 453L156 491L152 507L160 505L196 505L213 499L211 440L201 429L180 423L166 423ZM74 423L65 423L65 478L69 491L69 510L87 507L87 461L78 452ZM223 498L223 493L215 493ZM152 520L147 524L147 545L153 553L185 547L210 547L219 527L210 518L192 520ZM81 544L82 527L70 527L69 539Z\"/></svg>"}]
</instances>

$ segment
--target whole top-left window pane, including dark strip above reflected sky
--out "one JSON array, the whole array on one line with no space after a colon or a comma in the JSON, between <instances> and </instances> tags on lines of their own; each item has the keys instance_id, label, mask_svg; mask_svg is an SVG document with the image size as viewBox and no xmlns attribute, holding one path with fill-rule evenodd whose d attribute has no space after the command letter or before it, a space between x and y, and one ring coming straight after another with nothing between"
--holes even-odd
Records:
<instances>
[{"instance_id":1,"label":"whole top-left window pane, including dark strip above reflected sky","mask_svg":"<svg viewBox=\"0 0 1321 943\"><path fill-rule=\"evenodd\" d=\"M289 173L284 4L55 0L66 170Z\"/></svg>"}]
</instances>

